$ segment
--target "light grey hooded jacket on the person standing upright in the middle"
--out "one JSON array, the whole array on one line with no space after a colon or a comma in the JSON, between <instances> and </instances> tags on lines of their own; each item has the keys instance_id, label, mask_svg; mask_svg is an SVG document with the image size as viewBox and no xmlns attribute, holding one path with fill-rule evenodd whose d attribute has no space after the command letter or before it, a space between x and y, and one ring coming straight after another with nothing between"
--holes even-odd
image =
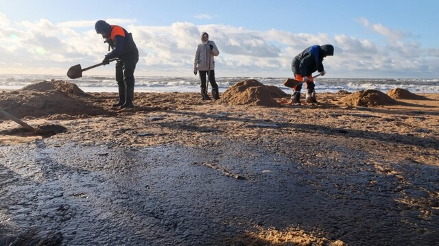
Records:
<instances>
[{"instance_id":1,"label":"light grey hooded jacket on the person standing upright in the middle","mask_svg":"<svg viewBox=\"0 0 439 246\"><path fill-rule=\"evenodd\" d=\"M193 71L209 71L215 69L215 60L214 56L219 55L219 51L215 42L208 40L205 44L202 42L203 35L207 34L206 32L202 32L201 34L201 43L197 47L197 51L195 51L195 59L193 61ZM209 37L209 34L207 34ZM213 49L209 48L209 45L213 46ZM209 60L211 62L209 66Z\"/></svg>"}]
</instances>

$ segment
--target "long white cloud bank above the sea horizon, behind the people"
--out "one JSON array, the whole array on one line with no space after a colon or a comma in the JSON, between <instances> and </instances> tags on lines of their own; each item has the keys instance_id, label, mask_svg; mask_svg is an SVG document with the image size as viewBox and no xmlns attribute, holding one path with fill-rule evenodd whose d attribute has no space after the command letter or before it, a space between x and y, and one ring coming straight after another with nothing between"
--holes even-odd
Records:
<instances>
[{"instance_id":1,"label":"long white cloud bank above the sea horizon, behind the people","mask_svg":"<svg viewBox=\"0 0 439 246\"><path fill-rule=\"evenodd\" d=\"M374 26L367 19L361 21L365 26ZM53 23L48 19L12 23L0 13L0 71L65 74L74 64L100 62L108 46L96 34L94 23L95 20ZM429 71L431 76L439 77L439 48L425 49L419 42L407 40L381 44L347 34L257 31L190 22L148 26L138 25L135 19L109 19L108 23L122 25L132 33L140 53L137 75L191 75L200 34L208 32L220 52L215 58L218 76L291 76L294 56L311 45L332 44L335 56L324 60L329 76L373 77L387 71L416 76ZM114 71L107 66L88 73L112 75Z\"/></svg>"}]
</instances>

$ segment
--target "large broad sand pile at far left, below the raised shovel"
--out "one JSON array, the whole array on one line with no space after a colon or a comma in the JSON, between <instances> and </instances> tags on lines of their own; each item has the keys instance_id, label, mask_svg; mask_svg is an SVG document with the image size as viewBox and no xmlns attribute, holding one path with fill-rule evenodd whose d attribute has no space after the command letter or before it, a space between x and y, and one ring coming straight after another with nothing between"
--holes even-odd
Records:
<instances>
[{"instance_id":1,"label":"large broad sand pile at far left, below the raised shovel","mask_svg":"<svg viewBox=\"0 0 439 246\"><path fill-rule=\"evenodd\" d=\"M88 97L75 84L52 80L0 93L0 108L19 118L51 114L108 114L103 108L87 102Z\"/></svg>"}]
</instances>

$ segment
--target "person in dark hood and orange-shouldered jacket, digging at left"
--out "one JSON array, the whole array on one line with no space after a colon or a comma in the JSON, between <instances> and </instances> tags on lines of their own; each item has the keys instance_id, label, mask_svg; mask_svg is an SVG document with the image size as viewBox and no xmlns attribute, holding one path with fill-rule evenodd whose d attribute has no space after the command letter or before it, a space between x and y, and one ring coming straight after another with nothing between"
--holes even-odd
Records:
<instances>
[{"instance_id":1,"label":"person in dark hood and orange-shouldered jacket, digging at left","mask_svg":"<svg viewBox=\"0 0 439 246\"><path fill-rule=\"evenodd\" d=\"M118 25L110 25L105 21L97 21L95 24L97 34L101 34L104 42L108 43L108 51L102 63L109 64L109 60L116 60L116 81L119 86L119 102L112 104L113 107L133 108L134 97L134 69L139 61L139 51L132 39L131 33Z\"/></svg>"}]
</instances>

